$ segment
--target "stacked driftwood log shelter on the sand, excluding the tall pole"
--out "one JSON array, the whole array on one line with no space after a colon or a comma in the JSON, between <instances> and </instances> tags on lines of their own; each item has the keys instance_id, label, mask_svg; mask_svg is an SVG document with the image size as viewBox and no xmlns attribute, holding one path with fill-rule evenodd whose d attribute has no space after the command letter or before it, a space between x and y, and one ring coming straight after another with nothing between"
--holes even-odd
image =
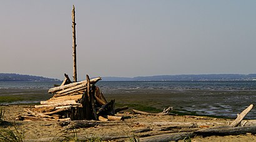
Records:
<instances>
[{"instance_id":1,"label":"stacked driftwood log shelter on the sand, excluding the tall pole","mask_svg":"<svg viewBox=\"0 0 256 142\"><path fill-rule=\"evenodd\" d=\"M26 109L27 113L19 116L19 120L122 120L121 116L114 116L115 100L107 102L106 98L96 87L101 77L72 83L68 75L61 86L49 89L48 93L54 94L52 98L41 101L41 105L35 105L32 109Z\"/></svg>"}]
</instances>

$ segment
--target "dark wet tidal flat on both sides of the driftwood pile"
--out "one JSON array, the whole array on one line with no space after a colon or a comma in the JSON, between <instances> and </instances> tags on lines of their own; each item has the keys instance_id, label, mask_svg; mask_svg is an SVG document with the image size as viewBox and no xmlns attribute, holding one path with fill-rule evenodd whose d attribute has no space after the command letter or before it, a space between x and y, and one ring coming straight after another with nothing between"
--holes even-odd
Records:
<instances>
[{"instance_id":1,"label":"dark wet tidal flat on both sides of the driftwood pile","mask_svg":"<svg viewBox=\"0 0 256 142\"><path fill-rule=\"evenodd\" d=\"M35 105L52 97L47 89L0 89L1 105ZM254 90L162 90L162 89L116 89L101 90L108 101L115 99L116 108L160 112L174 107L180 115L205 115L221 118L236 118L250 104L256 102ZM106 93L105 93L106 92ZM252 110L247 119L255 119Z\"/></svg>"}]
</instances>

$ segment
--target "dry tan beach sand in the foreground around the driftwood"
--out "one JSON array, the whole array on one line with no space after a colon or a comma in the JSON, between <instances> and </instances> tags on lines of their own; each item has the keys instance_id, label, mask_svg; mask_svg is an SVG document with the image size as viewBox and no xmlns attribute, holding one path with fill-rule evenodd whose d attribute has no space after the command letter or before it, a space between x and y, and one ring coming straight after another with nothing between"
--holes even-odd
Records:
<instances>
[{"instance_id":1,"label":"dry tan beach sand in the foreground around the driftwood","mask_svg":"<svg viewBox=\"0 0 256 142\"><path fill-rule=\"evenodd\" d=\"M190 125L191 123L198 124L194 129L203 129L212 126L228 125L228 119L209 118L209 117L187 117L187 116L145 116L119 113L117 115L129 116L130 118L124 121L108 121L102 122L102 125L97 125L90 128L77 128L67 130L67 127L62 127L57 121L15 121L17 116L24 113L24 108L31 106L9 105L0 106L6 113L4 120L6 123L0 126L1 129L14 129L14 123L17 130L22 130L25 133L26 141L61 141L64 138L74 138L77 136L80 140L86 138L109 139L116 138L111 141L130 141L136 136L146 136L152 134L168 133L169 131L159 131L161 128L168 128L175 123L183 123ZM172 123L172 125L170 125ZM142 133L135 133L136 130L150 129ZM177 131L186 131L189 128L182 128ZM173 129L172 131L175 131ZM120 138L118 138L120 137ZM121 138L124 137L124 138ZM256 141L256 135L237 135L237 136L195 136L192 141Z\"/></svg>"}]
</instances>

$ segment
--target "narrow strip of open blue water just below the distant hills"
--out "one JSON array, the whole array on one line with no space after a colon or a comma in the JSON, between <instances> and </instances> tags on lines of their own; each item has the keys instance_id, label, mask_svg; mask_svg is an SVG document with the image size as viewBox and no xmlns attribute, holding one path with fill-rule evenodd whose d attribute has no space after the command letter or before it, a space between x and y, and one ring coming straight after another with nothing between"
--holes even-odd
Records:
<instances>
[{"instance_id":1,"label":"narrow strip of open blue water just below the distant hills","mask_svg":"<svg viewBox=\"0 0 256 142\"><path fill-rule=\"evenodd\" d=\"M0 89L49 89L61 82L0 82ZM97 82L104 90L164 89L164 90L256 90L256 81L169 81L169 82Z\"/></svg>"}]
</instances>

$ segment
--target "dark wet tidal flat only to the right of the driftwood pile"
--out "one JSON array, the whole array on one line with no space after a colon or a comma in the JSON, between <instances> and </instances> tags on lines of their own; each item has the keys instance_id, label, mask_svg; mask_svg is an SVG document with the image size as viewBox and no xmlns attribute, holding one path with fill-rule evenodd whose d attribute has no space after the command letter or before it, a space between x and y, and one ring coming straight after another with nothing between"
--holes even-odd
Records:
<instances>
[{"instance_id":1,"label":"dark wet tidal flat only to the right of the driftwood pile","mask_svg":"<svg viewBox=\"0 0 256 142\"><path fill-rule=\"evenodd\" d=\"M255 91L245 90L116 90L104 93L106 98L116 99L122 105L143 105L154 107L158 111L166 107L174 107L189 115L210 115L224 118L236 118L250 104L256 102ZM149 110L150 111L150 110ZM246 117L256 118L256 110Z\"/></svg>"}]
</instances>

